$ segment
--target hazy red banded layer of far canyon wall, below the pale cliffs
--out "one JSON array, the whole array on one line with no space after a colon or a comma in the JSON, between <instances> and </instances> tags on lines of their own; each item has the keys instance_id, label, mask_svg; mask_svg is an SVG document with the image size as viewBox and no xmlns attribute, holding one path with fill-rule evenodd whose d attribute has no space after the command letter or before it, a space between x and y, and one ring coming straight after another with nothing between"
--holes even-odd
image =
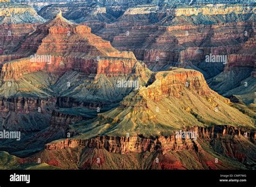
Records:
<instances>
[{"instance_id":1,"label":"hazy red banded layer of far canyon wall, below the pale cliffs","mask_svg":"<svg viewBox=\"0 0 256 187\"><path fill-rule=\"evenodd\" d=\"M114 37L112 45L119 50L132 51L150 68L176 62L198 62L205 61L205 55L210 53L228 55L239 51L246 37L252 35L250 27L251 23L133 26L127 30L129 35L124 32Z\"/></svg>"}]
</instances>

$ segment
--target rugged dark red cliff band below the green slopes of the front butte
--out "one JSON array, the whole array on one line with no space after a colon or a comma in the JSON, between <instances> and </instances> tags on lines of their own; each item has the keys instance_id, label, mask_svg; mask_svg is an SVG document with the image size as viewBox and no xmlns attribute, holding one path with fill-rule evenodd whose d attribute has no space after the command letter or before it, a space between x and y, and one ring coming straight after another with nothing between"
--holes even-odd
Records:
<instances>
[{"instance_id":1,"label":"rugged dark red cliff band below the green slopes of the front butte","mask_svg":"<svg viewBox=\"0 0 256 187\"><path fill-rule=\"evenodd\" d=\"M210 140L213 138L221 138L226 135L244 136L244 133L248 134L251 141L255 141L255 131L248 131L240 127L232 126L212 126L212 127L191 127L184 131L197 132L200 139ZM65 149L65 148L97 148L106 149L111 153L127 154L144 153L149 152L161 152L163 154L172 151L180 150L196 150L200 151L201 146L197 140L190 139L186 136L185 139L181 137L177 138L175 135L159 136L156 139L144 138L143 136L118 137L118 136L97 136L89 140L81 139L65 139L57 142L48 143L45 145L45 149Z\"/></svg>"}]
</instances>

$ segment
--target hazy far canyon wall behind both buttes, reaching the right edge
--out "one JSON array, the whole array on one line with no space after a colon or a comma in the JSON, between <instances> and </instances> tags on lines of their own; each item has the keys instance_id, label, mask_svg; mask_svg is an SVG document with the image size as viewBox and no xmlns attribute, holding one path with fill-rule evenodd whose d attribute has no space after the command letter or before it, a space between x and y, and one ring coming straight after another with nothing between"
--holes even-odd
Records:
<instances>
[{"instance_id":1,"label":"hazy far canyon wall behind both buttes, reaching the right edge","mask_svg":"<svg viewBox=\"0 0 256 187\"><path fill-rule=\"evenodd\" d=\"M150 70L166 70L169 67L196 69L204 74L213 90L221 94L227 92L225 97L235 95L246 104L254 102L255 79L246 80L251 74L254 75L253 50L251 57L235 61L231 59L239 51L241 54L245 52L242 50L245 45L247 48L254 47L253 2L195 1L194 4L186 4L183 1L152 1L133 4L120 1L116 6L110 4L53 4L45 6L38 13L49 19L58 10L63 10L64 17L90 26L93 33L111 41L113 47L120 51L133 52ZM80 13L74 14L73 9ZM49 15L48 12L52 13ZM238 63L241 75L235 77L234 82L224 78L226 83L220 83L223 86L218 89L218 80L224 80L220 78L225 77L223 74L229 74L228 77L235 74L225 64L206 63L206 55L210 54L228 55L233 64ZM226 66L230 66L230 63ZM250 82L250 89L246 88L248 93L237 91L241 90L240 82ZM250 95L250 99L246 99L245 95Z\"/></svg>"}]
</instances>

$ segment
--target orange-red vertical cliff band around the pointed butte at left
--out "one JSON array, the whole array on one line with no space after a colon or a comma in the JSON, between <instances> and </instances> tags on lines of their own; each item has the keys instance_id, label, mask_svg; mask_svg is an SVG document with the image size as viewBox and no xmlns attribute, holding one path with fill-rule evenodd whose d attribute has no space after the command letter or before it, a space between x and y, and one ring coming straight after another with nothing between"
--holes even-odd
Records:
<instances>
[{"instance_id":1,"label":"orange-red vertical cliff band around the pointed butte at left","mask_svg":"<svg viewBox=\"0 0 256 187\"><path fill-rule=\"evenodd\" d=\"M33 62L30 58L24 58L4 63L1 77L4 81L18 80L26 74L39 70L45 70L60 75L68 70L77 70L86 74L104 74L112 77L133 73L133 68L136 63L136 59L112 57L97 60L79 57L51 56L50 63L47 61ZM139 74L139 72L137 72L137 74Z\"/></svg>"}]
</instances>

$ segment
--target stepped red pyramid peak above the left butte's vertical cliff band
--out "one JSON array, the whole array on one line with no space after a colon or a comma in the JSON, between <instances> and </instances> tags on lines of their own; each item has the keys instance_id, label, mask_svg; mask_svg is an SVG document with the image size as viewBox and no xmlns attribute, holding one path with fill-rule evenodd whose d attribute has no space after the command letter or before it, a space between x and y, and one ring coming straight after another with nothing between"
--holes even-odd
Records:
<instances>
[{"instance_id":1,"label":"stepped red pyramid peak above the left butte's vertical cliff band","mask_svg":"<svg viewBox=\"0 0 256 187\"><path fill-rule=\"evenodd\" d=\"M53 40L56 43L50 45L49 42ZM75 45L73 48L78 50L74 51L74 53L81 52L84 55L89 51L93 56L102 56L103 51L105 51L104 55L106 55L106 52L117 52L110 45L110 42L91 34L89 27L73 24L63 18L61 13L55 19L38 26L36 32L26 38L17 52L23 54L30 52L29 55L31 55L37 51L38 54L46 54L53 51L54 54L51 55L64 55L71 50L69 47L72 45L68 45L69 43ZM49 46L50 48L48 48ZM86 48L81 46L86 46ZM73 54L73 56L75 55Z\"/></svg>"}]
</instances>

